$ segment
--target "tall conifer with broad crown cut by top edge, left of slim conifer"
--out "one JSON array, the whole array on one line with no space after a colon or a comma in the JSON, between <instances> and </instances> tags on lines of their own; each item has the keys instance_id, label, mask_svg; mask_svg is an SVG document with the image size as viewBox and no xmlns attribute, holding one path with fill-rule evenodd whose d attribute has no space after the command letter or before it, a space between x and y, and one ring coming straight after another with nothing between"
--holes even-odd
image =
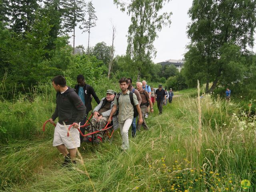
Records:
<instances>
[{"instance_id":1,"label":"tall conifer with broad crown cut by top edge, left of slim conifer","mask_svg":"<svg viewBox=\"0 0 256 192\"><path fill-rule=\"evenodd\" d=\"M75 52L75 27L84 22L86 4L83 0L65 0L63 2L63 27L65 32L73 32L73 54Z\"/></svg>"}]
</instances>

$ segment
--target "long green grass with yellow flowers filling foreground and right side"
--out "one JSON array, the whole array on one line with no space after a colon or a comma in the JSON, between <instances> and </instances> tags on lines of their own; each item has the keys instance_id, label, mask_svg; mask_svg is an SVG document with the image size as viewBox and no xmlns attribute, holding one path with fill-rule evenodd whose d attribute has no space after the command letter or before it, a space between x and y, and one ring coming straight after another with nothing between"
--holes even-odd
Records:
<instances>
[{"instance_id":1,"label":"long green grass with yellow flowers filling foreground and right side","mask_svg":"<svg viewBox=\"0 0 256 192\"><path fill-rule=\"evenodd\" d=\"M194 92L192 95L194 95ZM149 131L130 138L121 151L119 130L112 143L82 144L82 160L62 168L50 140L1 146L1 189L6 191L244 191L256 183L255 117L238 114L232 102L200 100L202 140L198 152L198 102L184 94L148 118ZM247 118L246 118L247 117ZM13 149L15 148L15 149ZM22 171L21 171L22 168ZM90 180L88 178L88 173Z\"/></svg>"}]
</instances>

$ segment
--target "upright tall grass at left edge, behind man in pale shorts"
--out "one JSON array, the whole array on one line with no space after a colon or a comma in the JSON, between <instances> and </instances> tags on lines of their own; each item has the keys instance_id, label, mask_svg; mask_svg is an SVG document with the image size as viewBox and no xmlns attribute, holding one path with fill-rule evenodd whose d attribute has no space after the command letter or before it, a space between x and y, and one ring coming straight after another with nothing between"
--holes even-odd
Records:
<instances>
[{"instance_id":1,"label":"upright tall grass at left edge, behind man in pale shorts","mask_svg":"<svg viewBox=\"0 0 256 192\"><path fill-rule=\"evenodd\" d=\"M15 100L0 101L0 143L42 137L42 124L54 112L54 89L32 90L30 97L20 94ZM49 136L50 134L46 134Z\"/></svg>"}]
</instances>

